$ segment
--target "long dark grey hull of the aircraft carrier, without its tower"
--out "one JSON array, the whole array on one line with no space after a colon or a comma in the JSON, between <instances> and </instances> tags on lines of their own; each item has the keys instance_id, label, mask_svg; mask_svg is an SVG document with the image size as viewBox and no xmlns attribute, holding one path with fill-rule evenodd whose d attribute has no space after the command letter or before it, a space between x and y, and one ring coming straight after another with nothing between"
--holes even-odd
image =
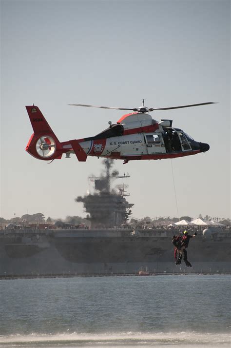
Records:
<instances>
[{"instance_id":1,"label":"long dark grey hull of the aircraft carrier, without its tower","mask_svg":"<svg viewBox=\"0 0 231 348\"><path fill-rule=\"evenodd\" d=\"M194 238L188 248L193 267L174 264L173 231L46 231L34 244L0 237L0 276L230 272L230 236ZM44 246L45 245L45 246ZM9 252L10 250L10 252ZM25 251L26 250L26 251Z\"/></svg>"}]
</instances>

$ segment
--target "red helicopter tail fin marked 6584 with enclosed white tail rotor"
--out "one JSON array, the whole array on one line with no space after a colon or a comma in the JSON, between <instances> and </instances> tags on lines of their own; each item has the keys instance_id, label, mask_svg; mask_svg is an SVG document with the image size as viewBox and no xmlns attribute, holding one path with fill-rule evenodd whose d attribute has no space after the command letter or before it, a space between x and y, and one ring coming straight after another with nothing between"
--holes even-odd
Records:
<instances>
[{"instance_id":1,"label":"red helicopter tail fin marked 6584 with enclosed white tail rotor","mask_svg":"<svg viewBox=\"0 0 231 348\"><path fill-rule=\"evenodd\" d=\"M29 119L34 130L26 151L39 160L50 161L60 159L63 154L61 143L47 123L38 106L26 106Z\"/></svg>"}]
</instances>

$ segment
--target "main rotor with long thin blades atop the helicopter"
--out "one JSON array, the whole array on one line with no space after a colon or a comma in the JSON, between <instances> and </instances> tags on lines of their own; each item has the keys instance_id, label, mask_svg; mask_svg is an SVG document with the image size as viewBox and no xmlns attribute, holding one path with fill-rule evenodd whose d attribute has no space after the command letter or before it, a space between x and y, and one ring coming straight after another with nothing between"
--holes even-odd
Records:
<instances>
[{"instance_id":1,"label":"main rotor with long thin blades atop the helicopter","mask_svg":"<svg viewBox=\"0 0 231 348\"><path fill-rule=\"evenodd\" d=\"M189 104L189 105L180 105L180 106L171 106L171 107L146 107L144 106L144 100L142 101L143 105L140 107L134 107L134 108L126 108L126 107L112 107L112 106L99 106L99 105L88 105L88 104L68 104L72 106L86 106L86 107L98 107L101 109L114 109L114 110L131 110L131 111L137 111L141 113L149 112L149 111L155 111L155 110L171 110L171 109L181 109L184 107L192 107L192 106L200 106L200 105L209 105L209 104L216 104L216 102L202 102L198 104Z\"/></svg>"}]
</instances>

